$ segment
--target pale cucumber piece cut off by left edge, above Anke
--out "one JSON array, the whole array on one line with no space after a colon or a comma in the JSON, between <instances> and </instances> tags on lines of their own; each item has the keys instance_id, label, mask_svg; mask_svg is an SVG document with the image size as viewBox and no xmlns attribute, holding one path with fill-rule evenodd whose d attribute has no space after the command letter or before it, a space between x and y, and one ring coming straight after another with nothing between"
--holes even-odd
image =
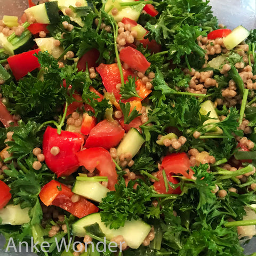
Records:
<instances>
[{"instance_id":1,"label":"pale cucumber piece cut off by left edge, above Anke","mask_svg":"<svg viewBox=\"0 0 256 256\"><path fill-rule=\"evenodd\" d=\"M21 209L20 205L9 204L5 208L0 210L0 218L2 219L2 225L23 225L30 221L28 215L29 208Z\"/></svg>"}]
</instances>

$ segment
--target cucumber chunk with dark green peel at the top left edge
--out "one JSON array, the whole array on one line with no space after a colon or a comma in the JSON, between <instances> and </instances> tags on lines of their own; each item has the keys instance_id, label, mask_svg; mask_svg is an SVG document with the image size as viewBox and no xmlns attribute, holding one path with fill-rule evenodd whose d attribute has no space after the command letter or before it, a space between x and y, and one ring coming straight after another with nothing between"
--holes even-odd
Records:
<instances>
[{"instance_id":1,"label":"cucumber chunk with dark green peel at the top left edge","mask_svg":"<svg viewBox=\"0 0 256 256\"><path fill-rule=\"evenodd\" d=\"M46 2L38 4L25 10L26 13L32 15L38 23L57 23L59 21L58 2Z\"/></svg>"}]
</instances>

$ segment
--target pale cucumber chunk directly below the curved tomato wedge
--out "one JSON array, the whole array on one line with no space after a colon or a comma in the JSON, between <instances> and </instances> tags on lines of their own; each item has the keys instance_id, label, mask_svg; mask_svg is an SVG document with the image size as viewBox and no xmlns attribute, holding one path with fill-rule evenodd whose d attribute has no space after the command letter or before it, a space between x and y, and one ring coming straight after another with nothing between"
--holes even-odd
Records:
<instances>
[{"instance_id":1,"label":"pale cucumber chunk directly below the curved tomato wedge","mask_svg":"<svg viewBox=\"0 0 256 256\"><path fill-rule=\"evenodd\" d=\"M72 191L79 196L101 203L102 198L106 197L110 190L98 181L76 180Z\"/></svg>"}]
</instances>

